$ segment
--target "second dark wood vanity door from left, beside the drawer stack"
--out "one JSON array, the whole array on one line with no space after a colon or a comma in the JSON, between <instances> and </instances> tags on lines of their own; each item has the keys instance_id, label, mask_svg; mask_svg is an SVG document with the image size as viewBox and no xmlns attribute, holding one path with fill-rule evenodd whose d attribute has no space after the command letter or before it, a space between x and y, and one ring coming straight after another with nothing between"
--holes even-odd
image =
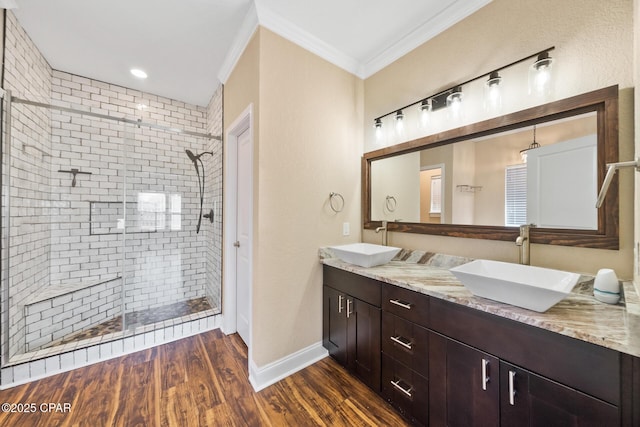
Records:
<instances>
[{"instance_id":1,"label":"second dark wood vanity door from left, beside the drawer stack","mask_svg":"<svg viewBox=\"0 0 640 427\"><path fill-rule=\"evenodd\" d=\"M380 391L380 308L347 298L348 366L365 384Z\"/></svg>"}]
</instances>

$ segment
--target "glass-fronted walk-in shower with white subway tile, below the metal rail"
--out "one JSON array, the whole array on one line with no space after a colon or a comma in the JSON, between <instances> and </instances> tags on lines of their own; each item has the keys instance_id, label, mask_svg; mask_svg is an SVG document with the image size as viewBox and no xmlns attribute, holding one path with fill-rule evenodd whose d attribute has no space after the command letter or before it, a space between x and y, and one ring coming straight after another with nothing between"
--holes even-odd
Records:
<instances>
[{"instance_id":1,"label":"glass-fronted walk-in shower with white subway tile, below the metal rail","mask_svg":"<svg viewBox=\"0 0 640 427\"><path fill-rule=\"evenodd\" d=\"M220 137L10 93L5 108L5 366L220 312L221 224L199 233Z\"/></svg>"}]
</instances>

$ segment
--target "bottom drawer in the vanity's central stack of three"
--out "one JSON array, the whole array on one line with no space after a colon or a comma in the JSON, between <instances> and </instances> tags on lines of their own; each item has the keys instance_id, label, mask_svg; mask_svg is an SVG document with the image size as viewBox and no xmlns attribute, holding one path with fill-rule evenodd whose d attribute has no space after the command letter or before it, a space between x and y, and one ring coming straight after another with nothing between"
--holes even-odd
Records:
<instances>
[{"instance_id":1,"label":"bottom drawer in the vanity's central stack of three","mask_svg":"<svg viewBox=\"0 0 640 427\"><path fill-rule=\"evenodd\" d=\"M429 382L386 354L382 355L381 394L412 423L429 424Z\"/></svg>"}]
</instances>

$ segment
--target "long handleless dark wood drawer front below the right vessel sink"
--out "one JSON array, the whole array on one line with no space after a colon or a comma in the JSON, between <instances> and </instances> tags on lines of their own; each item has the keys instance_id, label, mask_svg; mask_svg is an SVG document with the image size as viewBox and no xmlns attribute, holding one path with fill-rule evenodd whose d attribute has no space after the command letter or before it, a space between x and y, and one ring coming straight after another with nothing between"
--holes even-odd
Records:
<instances>
[{"instance_id":1,"label":"long handleless dark wood drawer front below the right vessel sink","mask_svg":"<svg viewBox=\"0 0 640 427\"><path fill-rule=\"evenodd\" d=\"M620 354L585 341L433 299L431 329L502 360L620 404Z\"/></svg>"}]
</instances>

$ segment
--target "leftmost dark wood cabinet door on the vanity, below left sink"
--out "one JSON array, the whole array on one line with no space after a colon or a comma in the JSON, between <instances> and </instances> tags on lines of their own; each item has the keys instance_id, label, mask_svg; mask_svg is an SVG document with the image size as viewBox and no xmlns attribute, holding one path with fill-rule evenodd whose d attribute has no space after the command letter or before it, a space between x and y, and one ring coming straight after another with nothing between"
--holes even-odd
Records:
<instances>
[{"instance_id":1,"label":"leftmost dark wood cabinet door on the vanity, below left sink","mask_svg":"<svg viewBox=\"0 0 640 427\"><path fill-rule=\"evenodd\" d=\"M331 357L343 366L347 365L347 316L346 295L335 289L323 287L322 344Z\"/></svg>"}]
</instances>

